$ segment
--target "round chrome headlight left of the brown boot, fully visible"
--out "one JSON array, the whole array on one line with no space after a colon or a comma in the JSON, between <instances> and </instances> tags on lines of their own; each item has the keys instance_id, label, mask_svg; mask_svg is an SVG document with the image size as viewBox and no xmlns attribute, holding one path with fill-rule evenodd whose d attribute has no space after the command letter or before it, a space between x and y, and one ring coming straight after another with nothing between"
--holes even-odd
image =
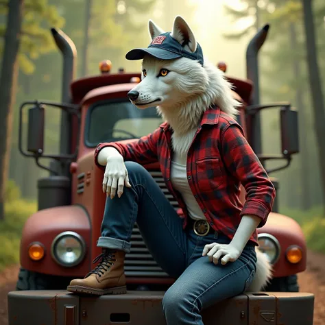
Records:
<instances>
[{"instance_id":1,"label":"round chrome headlight left of the brown boot, fully visible","mask_svg":"<svg viewBox=\"0 0 325 325\"><path fill-rule=\"evenodd\" d=\"M53 239L51 254L58 264L73 267L83 260L86 254L86 243L77 232L61 232Z\"/></svg>"}]
</instances>

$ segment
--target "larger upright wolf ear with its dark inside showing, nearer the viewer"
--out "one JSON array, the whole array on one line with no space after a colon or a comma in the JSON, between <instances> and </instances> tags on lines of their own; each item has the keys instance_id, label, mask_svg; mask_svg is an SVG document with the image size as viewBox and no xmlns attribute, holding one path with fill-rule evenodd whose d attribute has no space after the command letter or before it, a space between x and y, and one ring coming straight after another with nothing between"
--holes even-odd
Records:
<instances>
[{"instance_id":1,"label":"larger upright wolf ear with its dark inside showing, nearer the viewer","mask_svg":"<svg viewBox=\"0 0 325 325\"><path fill-rule=\"evenodd\" d=\"M175 38L182 47L185 47L185 49L191 52L196 51L194 34L181 16L177 16L173 22L173 32L171 32L171 36Z\"/></svg>"}]
</instances>

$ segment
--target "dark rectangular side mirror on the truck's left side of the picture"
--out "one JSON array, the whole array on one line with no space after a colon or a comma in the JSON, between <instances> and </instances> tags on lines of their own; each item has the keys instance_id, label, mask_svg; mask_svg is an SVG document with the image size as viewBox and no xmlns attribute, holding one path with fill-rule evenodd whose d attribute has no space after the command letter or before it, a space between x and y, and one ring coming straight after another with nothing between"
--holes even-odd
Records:
<instances>
[{"instance_id":1,"label":"dark rectangular side mirror on the truck's left side of the picture","mask_svg":"<svg viewBox=\"0 0 325 325\"><path fill-rule=\"evenodd\" d=\"M36 105L28 110L27 151L36 156L44 151L45 108Z\"/></svg>"}]
</instances>

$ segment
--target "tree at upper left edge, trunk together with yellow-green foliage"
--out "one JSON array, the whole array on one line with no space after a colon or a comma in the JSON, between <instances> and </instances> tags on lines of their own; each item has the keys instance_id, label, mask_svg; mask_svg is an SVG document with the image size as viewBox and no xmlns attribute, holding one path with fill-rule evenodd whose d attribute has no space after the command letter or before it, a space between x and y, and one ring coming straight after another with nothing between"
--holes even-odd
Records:
<instances>
[{"instance_id":1,"label":"tree at upper left edge, trunk together with yellow-green foliage","mask_svg":"<svg viewBox=\"0 0 325 325\"><path fill-rule=\"evenodd\" d=\"M0 36L4 36L0 77L0 219L3 219L5 184L12 142L12 110L19 70L27 74L32 73L33 60L53 48L49 42L49 34L42 27L43 22L62 21L56 9L47 6L46 0L10 0L1 3L1 14L7 17L5 26L0 28Z\"/></svg>"}]
</instances>

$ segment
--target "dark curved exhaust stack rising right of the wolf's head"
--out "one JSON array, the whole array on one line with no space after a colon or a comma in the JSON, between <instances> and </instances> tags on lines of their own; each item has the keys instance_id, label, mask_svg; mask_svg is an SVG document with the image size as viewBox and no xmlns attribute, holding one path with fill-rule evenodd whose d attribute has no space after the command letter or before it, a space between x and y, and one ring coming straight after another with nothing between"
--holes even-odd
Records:
<instances>
[{"instance_id":1,"label":"dark curved exhaust stack rising right of the wolf's head","mask_svg":"<svg viewBox=\"0 0 325 325\"><path fill-rule=\"evenodd\" d=\"M252 98L250 105L260 104L260 91L259 91L259 81L258 81L258 51L261 49L267 33L269 32L269 24L264 25L255 36L250 40L246 50L246 74L247 78L254 83ZM252 126L254 128L254 136L251 139L251 145L256 154L261 154L262 144L261 144L261 119L260 113L256 113L251 117Z\"/></svg>"}]
</instances>

